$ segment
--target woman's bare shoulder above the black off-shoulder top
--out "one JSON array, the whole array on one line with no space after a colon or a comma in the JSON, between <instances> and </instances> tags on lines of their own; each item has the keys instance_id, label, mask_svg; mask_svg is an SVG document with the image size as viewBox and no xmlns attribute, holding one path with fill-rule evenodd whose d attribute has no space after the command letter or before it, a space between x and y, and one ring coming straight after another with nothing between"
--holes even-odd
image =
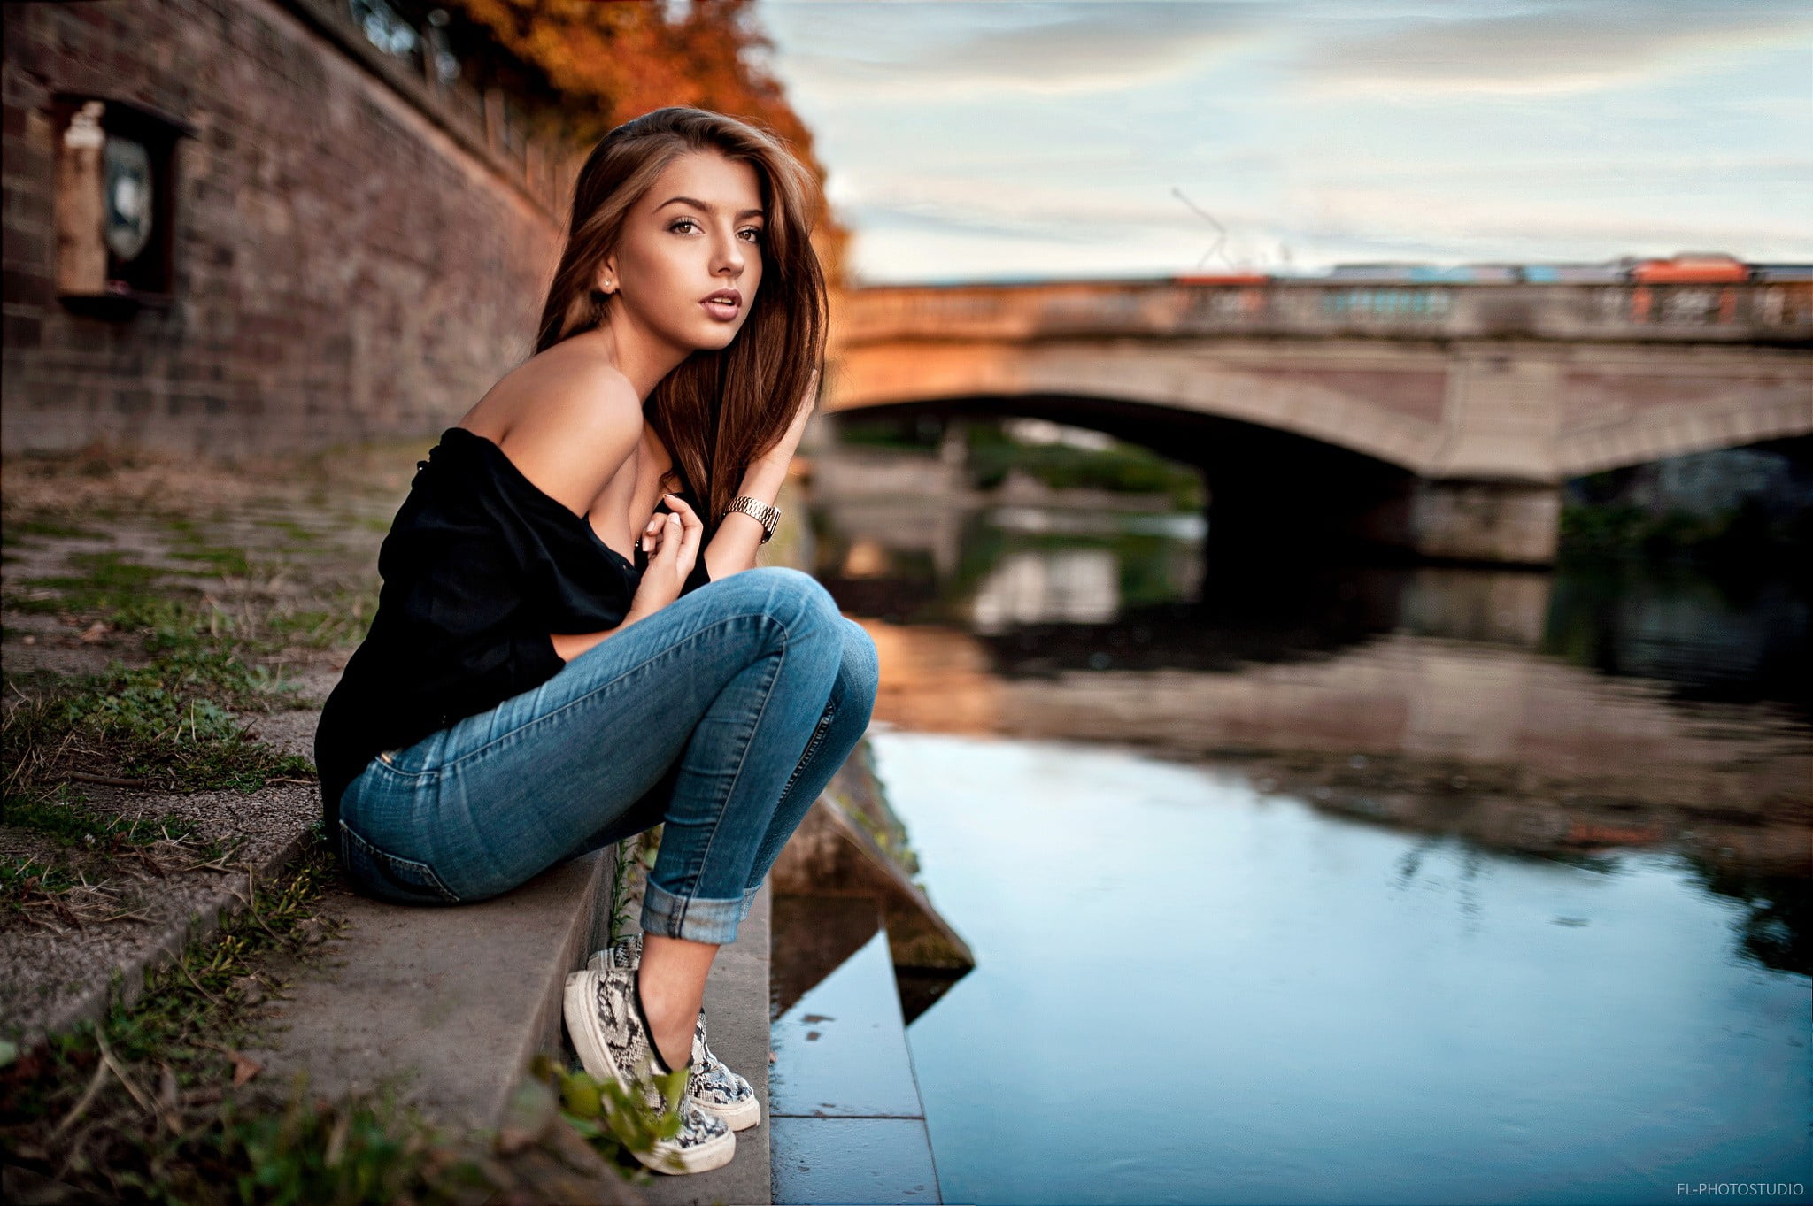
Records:
<instances>
[{"instance_id":1,"label":"woman's bare shoulder above the black off-shoulder top","mask_svg":"<svg viewBox=\"0 0 1813 1206\"><path fill-rule=\"evenodd\" d=\"M636 455L642 400L602 357L531 364L517 369L524 404L511 407L497 444L537 489L584 516Z\"/></svg>"}]
</instances>

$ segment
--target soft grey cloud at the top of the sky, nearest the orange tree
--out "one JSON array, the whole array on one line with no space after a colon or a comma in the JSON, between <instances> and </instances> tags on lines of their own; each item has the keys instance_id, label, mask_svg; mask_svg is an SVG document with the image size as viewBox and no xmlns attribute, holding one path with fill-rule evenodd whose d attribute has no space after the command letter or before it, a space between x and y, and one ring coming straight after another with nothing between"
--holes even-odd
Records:
<instances>
[{"instance_id":1,"label":"soft grey cloud at the top of the sky, nearest the orange tree","mask_svg":"<svg viewBox=\"0 0 1813 1206\"><path fill-rule=\"evenodd\" d=\"M1256 5L872 4L838 16L838 49L832 38L809 34L789 51L792 80L894 98L945 98L974 91L1093 92L1180 74L1240 45L1255 25ZM865 43L865 53L839 53L848 43Z\"/></svg>"}]
</instances>

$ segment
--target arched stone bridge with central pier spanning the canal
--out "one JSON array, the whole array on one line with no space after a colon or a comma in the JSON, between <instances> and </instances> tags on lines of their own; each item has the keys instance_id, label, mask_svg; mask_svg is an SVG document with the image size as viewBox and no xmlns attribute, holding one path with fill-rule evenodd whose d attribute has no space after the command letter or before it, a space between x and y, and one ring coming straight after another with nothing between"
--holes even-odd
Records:
<instances>
[{"instance_id":1,"label":"arched stone bridge with central pier spanning the canal","mask_svg":"<svg viewBox=\"0 0 1813 1206\"><path fill-rule=\"evenodd\" d=\"M1813 433L1813 284L890 286L827 407L1006 413L1198 465L1211 547L1545 563L1565 480Z\"/></svg>"}]
</instances>

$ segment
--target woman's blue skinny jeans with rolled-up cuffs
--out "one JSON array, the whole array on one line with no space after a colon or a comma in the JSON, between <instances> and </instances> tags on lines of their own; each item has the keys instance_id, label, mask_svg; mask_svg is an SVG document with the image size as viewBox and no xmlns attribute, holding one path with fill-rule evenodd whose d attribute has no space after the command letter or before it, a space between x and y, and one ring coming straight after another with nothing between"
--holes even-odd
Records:
<instances>
[{"instance_id":1,"label":"woman's blue skinny jeans with rolled-up cuffs","mask_svg":"<svg viewBox=\"0 0 1813 1206\"><path fill-rule=\"evenodd\" d=\"M662 824L642 929L734 942L867 732L877 677L874 641L816 578L731 574L372 759L341 797L341 862L379 900L461 904Z\"/></svg>"}]
</instances>

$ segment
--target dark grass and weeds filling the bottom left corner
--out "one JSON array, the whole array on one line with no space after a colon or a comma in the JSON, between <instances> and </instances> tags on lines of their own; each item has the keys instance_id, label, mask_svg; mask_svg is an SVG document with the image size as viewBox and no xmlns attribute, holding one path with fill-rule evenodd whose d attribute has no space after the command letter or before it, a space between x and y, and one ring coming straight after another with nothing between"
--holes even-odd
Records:
<instances>
[{"instance_id":1,"label":"dark grass and weeds filling the bottom left corner","mask_svg":"<svg viewBox=\"0 0 1813 1206\"><path fill-rule=\"evenodd\" d=\"M473 1201L479 1166L388 1092L279 1108L241 1083L272 956L319 942L332 882L319 831L303 864L259 884L219 934L150 974L132 1007L0 1061L0 1153L80 1197L147 1202ZM103 1070L105 1063L105 1070Z\"/></svg>"}]
</instances>

